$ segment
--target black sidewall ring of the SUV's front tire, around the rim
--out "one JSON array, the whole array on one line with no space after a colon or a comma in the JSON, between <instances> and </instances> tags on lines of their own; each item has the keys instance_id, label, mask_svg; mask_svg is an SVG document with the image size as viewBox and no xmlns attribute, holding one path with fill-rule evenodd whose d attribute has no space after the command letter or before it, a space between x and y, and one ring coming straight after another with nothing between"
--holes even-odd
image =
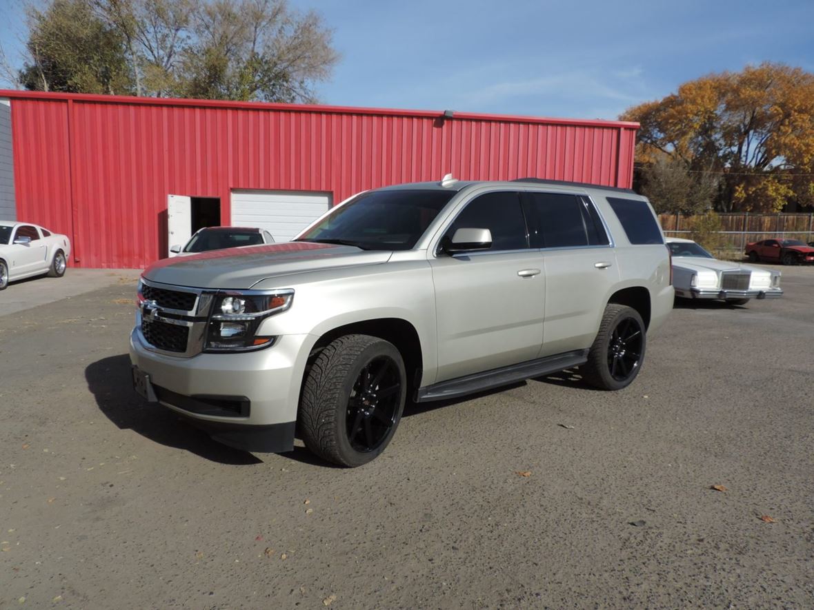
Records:
<instances>
[{"instance_id":1,"label":"black sidewall ring of the SUV's front tire, around the rim","mask_svg":"<svg viewBox=\"0 0 814 610\"><path fill-rule=\"evenodd\" d=\"M365 366L370 363L371 360L381 356L386 356L387 358L391 359L396 364L396 368L399 370L401 393L399 396L398 407L396 407L396 419L392 428L387 433L387 437L384 438L379 447L376 447L373 451L361 452L357 451L351 446L350 439L348 438L348 427L346 423L348 399L350 398L354 384L356 384L357 377L359 377L359 374L361 373L361 369L365 368ZM339 450L339 454L342 455L344 462L348 464L348 466L361 466L362 464L367 464L381 455L382 451L387 448L387 445L390 444L393 435L396 434L396 429L398 428L401 420L401 414L404 412L406 398L407 373L405 370L404 359L401 358L401 354L396 349L396 346L393 346L392 343L382 339L365 347L365 349L362 350L359 355L357 355L357 358L354 360L351 368L348 369L348 373L345 375L344 381L342 382L342 387L339 390L339 403L335 405L335 408L338 411L335 417L336 447Z\"/></svg>"}]
</instances>

